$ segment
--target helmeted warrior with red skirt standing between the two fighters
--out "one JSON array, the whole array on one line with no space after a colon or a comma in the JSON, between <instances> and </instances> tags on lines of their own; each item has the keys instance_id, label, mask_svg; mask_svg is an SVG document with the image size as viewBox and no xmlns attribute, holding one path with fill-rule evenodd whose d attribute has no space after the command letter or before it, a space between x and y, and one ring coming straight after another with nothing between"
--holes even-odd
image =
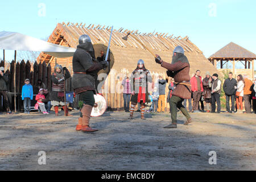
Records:
<instances>
[{"instance_id":1,"label":"helmeted warrior with red skirt standing between the two fighters","mask_svg":"<svg viewBox=\"0 0 256 182\"><path fill-rule=\"evenodd\" d=\"M137 68L133 71L133 83L131 84L131 108L130 118L133 119L133 113L138 103L141 104L141 119L144 118L145 103L150 102L148 99L147 82L152 82L150 72L145 68L144 61L140 59Z\"/></svg>"}]
</instances>

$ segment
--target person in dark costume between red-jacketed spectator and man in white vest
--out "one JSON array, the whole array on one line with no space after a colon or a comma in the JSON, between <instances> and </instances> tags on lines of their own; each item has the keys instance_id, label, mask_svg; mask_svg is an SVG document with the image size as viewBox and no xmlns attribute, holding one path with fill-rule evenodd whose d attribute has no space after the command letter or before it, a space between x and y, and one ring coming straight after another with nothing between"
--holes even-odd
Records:
<instances>
[{"instance_id":1,"label":"person in dark costume between red-jacketed spectator and man in white vest","mask_svg":"<svg viewBox=\"0 0 256 182\"><path fill-rule=\"evenodd\" d=\"M206 111L207 113L210 112L210 103L212 103L212 89L209 87L209 79L210 79L210 72L206 72L206 76L203 79L203 87L204 87L204 100L206 103Z\"/></svg>"}]
</instances>

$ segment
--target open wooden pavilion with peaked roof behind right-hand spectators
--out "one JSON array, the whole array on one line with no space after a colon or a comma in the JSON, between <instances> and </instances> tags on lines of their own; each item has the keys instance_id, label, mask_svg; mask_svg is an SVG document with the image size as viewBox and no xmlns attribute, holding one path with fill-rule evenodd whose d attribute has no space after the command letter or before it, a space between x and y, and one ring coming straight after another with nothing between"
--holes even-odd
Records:
<instances>
[{"instance_id":1,"label":"open wooden pavilion with peaked roof behind right-hand spectators","mask_svg":"<svg viewBox=\"0 0 256 182\"><path fill-rule=\"evenodd\" d=\"M231 42L219 51L209 57L210 63L217 68L217 63L220 62L220 69L218 71L222 73L233 72L234 77L237 75L246 75L249 79L254 78L254 60L256 55L245 48L238 46ZM225 64L228 62L233 63L232 69L225 69ZM241 62L245 68L236 69L236 64Z\"/></svg>"}]
</instances>

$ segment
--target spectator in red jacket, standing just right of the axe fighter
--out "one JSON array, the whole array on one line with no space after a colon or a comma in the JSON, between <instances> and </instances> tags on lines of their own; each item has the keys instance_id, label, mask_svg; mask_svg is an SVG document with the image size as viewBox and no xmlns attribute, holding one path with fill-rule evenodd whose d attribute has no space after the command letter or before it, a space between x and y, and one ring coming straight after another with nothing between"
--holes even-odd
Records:
<instances>
[{"instance_id":1,"label":"spectator in red jacket, standing just right of the axe fighter","mask_svg":"<svg viewBox=\"0 0 256 182\"><path fill-rule=\"evenodd\" d=\"M193 113L200 113L198 110L199 101L204 92L202 77L200 76L200 70L196 71L196 75L193 76L190 80L191 90L193 93Z\"/></svg>"}]
</instances>

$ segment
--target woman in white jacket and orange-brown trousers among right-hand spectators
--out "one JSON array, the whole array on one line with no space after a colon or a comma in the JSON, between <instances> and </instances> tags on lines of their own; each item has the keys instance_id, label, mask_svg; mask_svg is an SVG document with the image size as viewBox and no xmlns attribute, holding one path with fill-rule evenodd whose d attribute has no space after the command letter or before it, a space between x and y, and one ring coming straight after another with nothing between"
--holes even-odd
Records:
<instances>
[{"instance_id":1,"label":"woman in white jacket and orange-brown trousers among right-hand spectators","mask_svg":"<svg viewBox=\"0 0 256 182\"><path fill-rule=\"evenodd\" d=\"M243 80L242 75L238 75L237 76L237 86L235 86L235 89L237 89L236 105L237 105L237 113L238 114L241 114L243 112L243 88L244 87L245 87L245 80Z\"/></svg>"}]
</instances>

